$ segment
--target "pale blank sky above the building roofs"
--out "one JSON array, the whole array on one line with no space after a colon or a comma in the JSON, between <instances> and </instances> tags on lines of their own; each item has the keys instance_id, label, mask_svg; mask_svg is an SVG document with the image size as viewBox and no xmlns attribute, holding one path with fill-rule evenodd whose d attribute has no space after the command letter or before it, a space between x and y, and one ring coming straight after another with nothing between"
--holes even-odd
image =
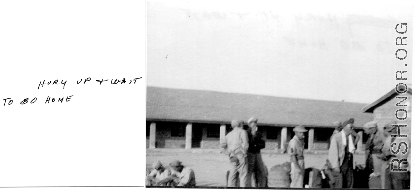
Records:
<instances>
[{"instance_id":1,"label":"pale blank sky above the building roofs","mask_svg":"<svg viewBox=\"0 0 415 190\"><path fill-rule=\"evenodd\" d=\"M298 3L149 1L147 86L369 104L411 84L411 6Z\"/></svg>"}]
</instances>

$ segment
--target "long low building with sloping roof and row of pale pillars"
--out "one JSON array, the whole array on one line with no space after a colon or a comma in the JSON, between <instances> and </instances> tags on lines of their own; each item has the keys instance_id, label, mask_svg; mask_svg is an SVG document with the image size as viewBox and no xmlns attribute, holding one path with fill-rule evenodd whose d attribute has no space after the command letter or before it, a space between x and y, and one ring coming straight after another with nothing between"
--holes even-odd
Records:
<instances>
[{"instance_id":1,"label":"long low building with sloping roof and row of pale pillars","mask_svg":"<svg viewBox=\"0 0 415 190\"><path fill-rule=\"evenodd\" d=\"M362 127L373 120L372 113L362 111L367 104L158 87L147 87L146 106L150 149L216 149L231 131L231 120L246 123L257 117L265 149L285 150L293 128L301 124L309 129L305 148L327 150L333 122L354 118L361 137L357 148L363 150L367 136Z\"/></svg>"}]
</instances>

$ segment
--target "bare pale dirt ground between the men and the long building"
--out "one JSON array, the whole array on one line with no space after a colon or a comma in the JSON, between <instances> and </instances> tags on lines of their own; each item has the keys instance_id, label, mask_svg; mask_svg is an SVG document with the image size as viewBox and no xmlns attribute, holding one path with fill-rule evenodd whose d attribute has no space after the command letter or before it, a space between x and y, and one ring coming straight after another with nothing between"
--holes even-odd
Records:
<instances>
[{"instance_id":1,"label":"bare pale dirt ground between the men and the long building","mask_svg":"<svg viewBox=\"0 0 415 190\"><path fill-rule=\"evenodd\" d=\"M287 154L278 154L273 151L263 152L262 159L268 170L272 166L289 161ZM305 167L321 169L327 159L327 153L305 154ZM146 150L146 168L160 160L163 165L169 165L174 160L180 160L184 166L194 170L197 186L225 186L226 171L229 170L228 158L219 153L219 150L184 150L184 149L154 149ZM364 164L364 155L354 155L354 162Z\"/></svg>"}]
</instances>

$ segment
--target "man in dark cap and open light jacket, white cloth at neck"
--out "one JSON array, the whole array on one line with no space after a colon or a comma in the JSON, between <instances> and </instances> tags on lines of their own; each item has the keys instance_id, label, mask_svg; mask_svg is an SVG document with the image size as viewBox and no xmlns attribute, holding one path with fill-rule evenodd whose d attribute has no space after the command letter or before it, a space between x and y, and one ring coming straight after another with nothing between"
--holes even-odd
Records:
<instances>
[{"instance_id":1,"label":"man in dark cap and open light jacket, white cloth at neck","mask_svg":"<svg viewBox=\"0 0 415 190\"><path fill-rule=\"evenodd\" d=\"M353 187L353 122L353 118L343 122L343 129L333 136L329 148L328 159L333 171L342 174L343 188Z\"/></svg>"}]
</instances>

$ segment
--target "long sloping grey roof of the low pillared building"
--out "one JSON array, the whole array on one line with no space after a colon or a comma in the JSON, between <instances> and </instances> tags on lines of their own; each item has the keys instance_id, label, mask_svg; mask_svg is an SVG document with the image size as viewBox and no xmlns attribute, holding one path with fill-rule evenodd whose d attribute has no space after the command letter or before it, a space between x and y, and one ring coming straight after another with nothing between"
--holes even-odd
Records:
<instances>
[{"instance_id":1,"label":"long sloping grey roof of the low pillared building","mask_svg":"<svg viewBox=\"0 0 415 190\"><path fill-rule=\"evenodd\" d=\"M258 117L259 125L332 127L355 118L355 126L372 120L366 104L283 98L202 90L147 87L147 120L228 124ZM328 134L330 135L330 134Z\"/></svg>"}]
</instances>

